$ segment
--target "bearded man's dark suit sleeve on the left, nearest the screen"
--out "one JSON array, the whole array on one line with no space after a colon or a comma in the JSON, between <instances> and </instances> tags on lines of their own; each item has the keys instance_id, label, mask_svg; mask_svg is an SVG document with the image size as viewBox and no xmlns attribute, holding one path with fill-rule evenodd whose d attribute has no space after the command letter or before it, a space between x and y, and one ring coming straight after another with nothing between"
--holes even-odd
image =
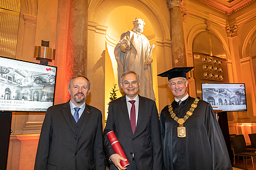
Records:
<instances>
[{"instance_id":1,"label":"bearded man's dark suit sleeve on the left, nearest the screen","mask_svg":"<svg viewBox=\"0 0 256 170\"><path fill-rule=\"evenodd\" d=\"M38 142L37 155L35 157L35 170L46 170L47 168L51 137L51 111L47 109Z\"/></svg>"}]
</instances>

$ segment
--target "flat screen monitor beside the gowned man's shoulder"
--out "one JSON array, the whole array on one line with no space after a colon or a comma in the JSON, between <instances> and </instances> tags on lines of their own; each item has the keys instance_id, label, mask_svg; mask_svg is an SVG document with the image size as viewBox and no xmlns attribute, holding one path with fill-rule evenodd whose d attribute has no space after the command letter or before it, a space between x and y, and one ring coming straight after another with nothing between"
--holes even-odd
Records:
<instances>
[{"instance_id":1,"label":"flat screen monitor beside the gowned man's shoulder","mask_svg":"<svg viewBox=\"0 0 256 170\"><path fill-rule=\"evenodd\" d=\"M214 110L247 111L245 84L202 83L202 99Z\"/></svg>"}]
</instances>

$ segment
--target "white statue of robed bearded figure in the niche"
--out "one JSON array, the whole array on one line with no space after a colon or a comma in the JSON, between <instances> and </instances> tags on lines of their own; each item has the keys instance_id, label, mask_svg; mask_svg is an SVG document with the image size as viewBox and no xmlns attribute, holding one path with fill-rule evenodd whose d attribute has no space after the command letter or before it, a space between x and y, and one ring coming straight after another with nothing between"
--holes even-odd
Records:
<instances>
[{"instance_id":1,"label":"white statue of robed bearded figure in the niche","mask_svg":"<svg viewBox=\"0 0 256 170\"><path fill-rule=\"evenodd\" d=\"M139 95L155 100L152 79L152 50L155 44L149 44L149 40L142 34L145 22L143 19L133 20L132 31L124 32L121 40L114 48L114 55L118 65L118 81L120 88L120 78L123 72L132 70L139 75L140 88Z\"/></svg>"}]
</instances>

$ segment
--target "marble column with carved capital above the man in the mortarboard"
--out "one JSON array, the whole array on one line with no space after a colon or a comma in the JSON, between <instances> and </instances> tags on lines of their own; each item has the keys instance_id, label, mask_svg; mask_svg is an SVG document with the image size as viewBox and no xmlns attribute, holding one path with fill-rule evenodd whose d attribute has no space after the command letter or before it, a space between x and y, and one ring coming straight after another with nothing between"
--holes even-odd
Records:
<instances>
[{"instance_id":1,"label":"marble column with carved capital above the man in the mortarboard","mask_svg":"<svg viewBox=\"0 0 256 170\"><path fill-rule=\"evenodd\" d=\"M172 38L172 66L186 66L186 50L182 25L181 0L168 0L170 35Z\"/></svg>"}]
</instances>

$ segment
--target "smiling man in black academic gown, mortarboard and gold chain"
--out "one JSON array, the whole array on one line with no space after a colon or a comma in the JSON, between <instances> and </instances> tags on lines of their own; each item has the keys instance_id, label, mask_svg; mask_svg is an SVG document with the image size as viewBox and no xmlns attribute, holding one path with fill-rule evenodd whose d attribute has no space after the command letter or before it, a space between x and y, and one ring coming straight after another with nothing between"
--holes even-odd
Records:
<instances>
[{"instance_id":1,"label":"smiling man in black academic gown, mortarboard and gold chain","mask_svg":"<svg viewBox=\"0 0 256 170\"><path fill-rule=\"evenodd\" d=\"M165 170L232 169L211 105L192 98L186 90L186 72L192 68L173 68L159 74L168 77L175 96L175 101L165 106L160 114Z\"/></svg>"}]
</instances>

